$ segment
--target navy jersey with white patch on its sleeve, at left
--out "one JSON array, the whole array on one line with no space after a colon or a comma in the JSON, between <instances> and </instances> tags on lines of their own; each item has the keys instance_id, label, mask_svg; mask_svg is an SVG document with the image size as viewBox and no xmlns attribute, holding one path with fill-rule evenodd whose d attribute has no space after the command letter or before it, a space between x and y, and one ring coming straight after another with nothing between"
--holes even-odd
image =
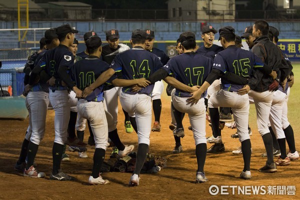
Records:
<instances>
[{"instance_id":1,"label":"navy jersey with white patch on its sleeve, at left","mask_svg":"<svg viewBox=\"0 0 300 200\"><path fill-rule=\"evenodd\" d=\"M74 65L74 56L68 47L59 44L57 47L47 50L36 66L44 68L49 76L60 78L57 71L59 66L67 66L70 69ZM66 86L49 86L52 90L67 89Z\"/></svg>"}]
</instances>

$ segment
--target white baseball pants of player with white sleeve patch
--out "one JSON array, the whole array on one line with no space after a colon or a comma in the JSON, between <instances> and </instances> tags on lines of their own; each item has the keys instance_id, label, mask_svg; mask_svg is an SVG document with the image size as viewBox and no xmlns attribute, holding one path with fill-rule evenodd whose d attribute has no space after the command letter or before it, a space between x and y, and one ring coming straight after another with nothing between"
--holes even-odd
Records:
<instances>
[{"instance_id":1,"label":"white baseball pants of player with white sleeve patch","mask_svg":"<svg viewBox=\"0 0 300 200\"><path fill-rule=\"evenodd\" d=\"M49 89L49 99L55 111L54 116L54 142L64 144L67 138L67 125L70 118L70 102L68 91Z\"/></svg>"}]
</instances>

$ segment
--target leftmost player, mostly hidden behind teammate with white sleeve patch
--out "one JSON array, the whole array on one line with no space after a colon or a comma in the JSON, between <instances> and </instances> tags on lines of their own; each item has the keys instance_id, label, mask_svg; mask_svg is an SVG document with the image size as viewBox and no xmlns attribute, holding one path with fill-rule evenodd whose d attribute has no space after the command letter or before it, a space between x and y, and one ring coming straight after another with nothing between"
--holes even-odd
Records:
<instances>
[{"instance_id":1,"label":"leftmost player, mostly hidden behind teammate with white sleeve patch","mask_svg":"<svg viewBox=\"0 0 300 200\"><path fill-rule=\"evenodd\" d=\"M52 49L59 44L55 28L46 30L44 36L46 43L45 49ZM38 53L34 62L30 63L30 65L27 65L27 72L29 69L30 71L33 70L34 65L39 61L45 52L46 50L43 50ZM15 169L22 170L24 176L30 177L45 176L44 172L37 171L37 169L33 166L38 145L44 135L46 113L49 104L49 89L48 85L46 84L46 80L43 80L43 78L47 78L47 76L42 76L42 73L40 73L39 82L33 84L31 87L26 85L24 89L26 90L24 92L26 95L25 103L29 112L29 127L22 144L19 159L15 164ZM29 79L28 83L30 83ZM28 88L30 89L27 90ZM26 156L27 164L25 165L24 161Z\"/></svg>"}]
</instances>

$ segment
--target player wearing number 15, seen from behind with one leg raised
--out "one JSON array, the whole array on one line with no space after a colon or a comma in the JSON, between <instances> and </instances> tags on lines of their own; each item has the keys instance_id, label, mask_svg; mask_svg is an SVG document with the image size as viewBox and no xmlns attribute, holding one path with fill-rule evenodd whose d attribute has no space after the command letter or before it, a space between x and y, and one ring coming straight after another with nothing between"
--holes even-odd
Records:
<instances>
[{"instance_id":1,"label":"player wearing number 15, seen from behind with one leg raised","mask_svg":"<svg viewBox=\"0 0 300 200\"><path fill-rule=\"evenodd\" d=\"M253 67L261 68L264 66L263 69L267 74L272 72L270 67L263 65L262 60L260 60L258 56L235 46L235 33L233 27L225 26L220 28L219 40L224 47L224 50L215 56L211 73L207 76L199 90L194 92L189 98L191 102L197 102L200 98L200 94L208 88L210 83L228 71L242 77L249 77ZM275 76L276 73L275 75L272 73L272 75ZM248 95L237 94L237 90L242 88L243 85L232 84L230 80L224 77L221 77L221 83L222 89L214 92L208 99L211 126L213 131L218 131L219 113L217 110L210 108L218 106L231 107L243 152L244 167L240 173L240 177L243 179L250 179L251 142L247 129L249 114Z\"/></svg>"}]
</instances>

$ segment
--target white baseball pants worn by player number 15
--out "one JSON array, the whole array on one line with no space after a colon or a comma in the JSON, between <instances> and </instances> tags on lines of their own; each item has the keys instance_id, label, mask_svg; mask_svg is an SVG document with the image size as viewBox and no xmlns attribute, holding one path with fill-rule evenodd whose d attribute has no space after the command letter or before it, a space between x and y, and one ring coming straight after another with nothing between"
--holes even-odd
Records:
<instances>
[{"instance_id":1,"label":"white baseball pants worn by player number 15","mask_svg":"<svg viewBox=\"0 0 300 200\"><path fill-rule=\"evenodd\" d=\"M250 139L248 133L249 98L247 94L238 95L234 91L220 89L211 94L208 99L208 107L231 107L239 141Z\"/></svg>"}]
</instances>

